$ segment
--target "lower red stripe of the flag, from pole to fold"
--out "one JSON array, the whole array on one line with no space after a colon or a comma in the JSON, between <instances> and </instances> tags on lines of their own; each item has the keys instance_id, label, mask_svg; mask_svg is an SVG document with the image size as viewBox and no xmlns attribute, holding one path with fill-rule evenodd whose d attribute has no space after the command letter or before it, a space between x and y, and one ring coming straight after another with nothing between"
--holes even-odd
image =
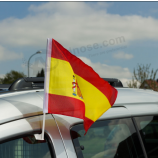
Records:
<instances>
[{"instance_id":1,"label":"lower red stripe of the flag, from pole to fold","mask_svg":"<svg viewBox=\"0 0 158 158\"><path fill-rule=\"evenodd\" d=\"M85 105L84 102L75 98L49 94L48 113L84 119Z\"/></svg>"}]
</instances>

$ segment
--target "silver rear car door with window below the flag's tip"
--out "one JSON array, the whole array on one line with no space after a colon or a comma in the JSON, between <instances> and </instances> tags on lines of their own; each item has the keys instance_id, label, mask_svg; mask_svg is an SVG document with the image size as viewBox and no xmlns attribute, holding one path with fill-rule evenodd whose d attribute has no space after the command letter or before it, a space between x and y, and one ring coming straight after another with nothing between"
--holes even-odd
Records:
<instances>
[{"instance_id":1,"label":"silver rear car door with window below the flag's tip","mask_svg":"<svg viewBox=\"0 0 158 158\"><path fill-rule=\"evenodd\" d=\"M124 107L109 109L86 135L83 120L54 117L71 158L146 158L133 118Z\"/></svg>"}]
</instances>

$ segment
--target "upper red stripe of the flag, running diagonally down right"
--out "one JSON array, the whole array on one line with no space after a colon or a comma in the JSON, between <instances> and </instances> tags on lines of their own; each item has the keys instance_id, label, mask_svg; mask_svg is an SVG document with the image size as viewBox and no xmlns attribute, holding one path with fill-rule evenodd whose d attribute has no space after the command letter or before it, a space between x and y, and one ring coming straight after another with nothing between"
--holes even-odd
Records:
<instances>
[{"instance_id":1,"label":"upper red stripe of the flag, running diagonally down right","mask_svg":"<svg viewBox=\"0 0 158 158\"><path fill-rule=\"evenodd\" d=\"M90 66L85 64L75 55L71 54L54 39L52 39L52 47L53 50L51 56L53 58L68 61L75 74L82 77L93 86L95 86L98 90L100 90L107 97L111 106L114 104L117 97L117 90L115 88L113 88L107 81L100 78L100 76Z\"/></svg>"}]
</instances>

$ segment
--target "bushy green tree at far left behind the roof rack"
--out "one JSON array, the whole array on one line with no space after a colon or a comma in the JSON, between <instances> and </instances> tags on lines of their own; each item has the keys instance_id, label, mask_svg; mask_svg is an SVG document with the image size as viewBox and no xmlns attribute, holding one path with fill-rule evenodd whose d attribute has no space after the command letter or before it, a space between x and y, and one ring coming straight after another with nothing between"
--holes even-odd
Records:
<instances>
[{"instance_id":1,"label":"bushy green tree at far left behind the roof rack","mask_svg":"<svg viewBox=\"0 0 158 158\"><path fill-rule=\"evenodd\" d=\"M4 76L4 78L0 78L0 83L1 84L11 84L18 78L22 78L22 77L26 77L26 75L23 72L11 70Z\"/></svg>"}]
</instances>

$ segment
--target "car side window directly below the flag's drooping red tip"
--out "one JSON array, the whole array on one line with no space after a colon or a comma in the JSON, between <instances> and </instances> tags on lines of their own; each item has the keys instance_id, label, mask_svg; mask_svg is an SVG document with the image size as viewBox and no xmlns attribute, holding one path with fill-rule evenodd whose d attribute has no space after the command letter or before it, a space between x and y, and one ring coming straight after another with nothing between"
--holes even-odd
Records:
<instances>
[{"instance_id":1,"label":"car side window directly below the flag's drooping red tip","mask_svg":"<svg viewBox=\"0 0 158 158\"><path fill-rule=\"evenodd\" d=\"M137 133L130 118L97 121L84 136L82 124L71 128L79 158L143 158Z\"/></svg>"}]
</instances>

